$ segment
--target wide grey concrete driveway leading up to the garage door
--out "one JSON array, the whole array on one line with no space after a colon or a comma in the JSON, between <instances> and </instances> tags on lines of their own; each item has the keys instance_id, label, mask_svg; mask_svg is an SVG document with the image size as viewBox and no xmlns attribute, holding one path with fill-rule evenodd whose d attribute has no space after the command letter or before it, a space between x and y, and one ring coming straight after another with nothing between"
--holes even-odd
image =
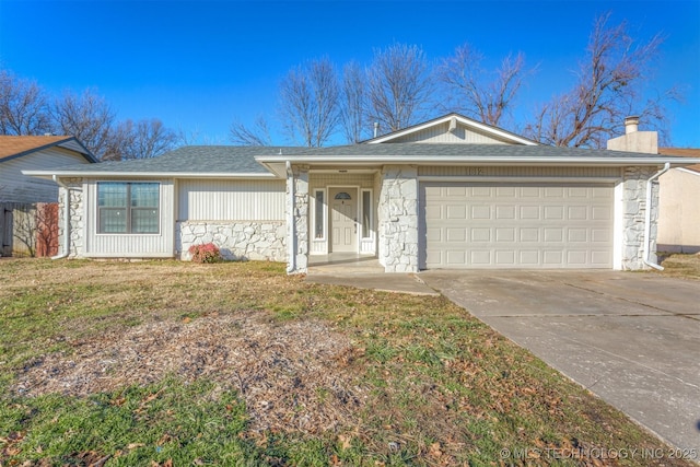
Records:
<instances>
[{"instance_id":1,"label":"wide grey concrete driveway leading up to the garage door","mask_svg":"<svg viewBox=\"0 0 700 467\"><path fill-rule=\"evenodd\" d=\"M700 281L581 270L420 278L662 439L700 453Z\"/></svg>"}]
</instances>

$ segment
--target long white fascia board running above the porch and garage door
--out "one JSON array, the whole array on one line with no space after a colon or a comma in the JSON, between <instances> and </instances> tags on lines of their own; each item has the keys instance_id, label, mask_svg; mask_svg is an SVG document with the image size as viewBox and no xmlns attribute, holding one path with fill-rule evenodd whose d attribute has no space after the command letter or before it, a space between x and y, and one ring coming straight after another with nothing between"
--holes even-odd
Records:
<instances>
[{"instance_id":1,"label":"long white fascia board running above the porch and garage door","mask_svg":"<svg viewBox=\"0 0 700 467\"><path fill-rule=\"evenodd\" d=\"M269 164L290 161L294 164L324 164L324 165L358 165L358 164L416 164L416 165L559 165L559 166L629 166L629 165L663 165L670 163L674 167L700 164L700 159L689 157L443 157L443 156L402 156L381 157L376 155L304 157L289 156L259 157L258 162L266 167Z\"/></svg>"}]
</instances>

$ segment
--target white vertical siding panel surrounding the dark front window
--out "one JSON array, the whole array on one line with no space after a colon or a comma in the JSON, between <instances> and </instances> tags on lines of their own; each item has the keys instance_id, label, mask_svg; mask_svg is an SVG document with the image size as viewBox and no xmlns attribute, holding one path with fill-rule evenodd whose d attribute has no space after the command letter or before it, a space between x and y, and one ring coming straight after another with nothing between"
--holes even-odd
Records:
<instances>
[{"instance_id":1,"label":"white vertical siding panel surrounding the dark front window","mask_svg":"<svg viewBox=\"0 0 700 467\"><path fill-rule=\"evenodd\" d=\"M158 234L98 234L97 233L97 183L86 180L83 185L84 254L93 258L162 258L173 257L174 247L174 183L172 179L156 179L161 184L160 222ZM119 180L131 182L131 180ZM139 180L133 180L139 182Z\"/></svg>"}]
</instances>

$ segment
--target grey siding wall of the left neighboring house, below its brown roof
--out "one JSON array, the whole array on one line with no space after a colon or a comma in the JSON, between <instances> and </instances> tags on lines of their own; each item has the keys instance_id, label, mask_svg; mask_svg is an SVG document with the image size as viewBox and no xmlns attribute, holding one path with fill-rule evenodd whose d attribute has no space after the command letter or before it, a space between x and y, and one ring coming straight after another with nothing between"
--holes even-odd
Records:
<instances>
[{"instance_id":1,"label":"grey siding wall of the left neighboring house, below its brown roof","mask_svg":"<svg viewBox=\"0 0 700 467\"><path fill-rule=\"evenodd\" d=\"M0 201L57 202L58 185L54 180L30 177L22 171L43 171L66 165L90 164L80 154L49 148L9 161L0 161Z\"/></svg>"}]
</instances>

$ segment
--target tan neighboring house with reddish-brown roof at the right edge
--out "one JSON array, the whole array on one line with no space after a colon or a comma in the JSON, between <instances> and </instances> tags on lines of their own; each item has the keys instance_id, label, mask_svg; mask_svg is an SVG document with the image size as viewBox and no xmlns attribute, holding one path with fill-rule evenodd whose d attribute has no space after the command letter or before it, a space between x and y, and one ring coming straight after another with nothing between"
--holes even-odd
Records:
<instances>
[{"instance_id":1,"label":"tan neighboring house with reddish-brown roof at the right edge","mask_svg":"<svg viewBox=\"0 0 700 467\"><path fill-rule=\"evenodd\" d=\"M700 157L700 149L661 148L658 152ZM700 252L700 164L672 168L660 183L658 250Z\"/></svg>"}]
</instances>

